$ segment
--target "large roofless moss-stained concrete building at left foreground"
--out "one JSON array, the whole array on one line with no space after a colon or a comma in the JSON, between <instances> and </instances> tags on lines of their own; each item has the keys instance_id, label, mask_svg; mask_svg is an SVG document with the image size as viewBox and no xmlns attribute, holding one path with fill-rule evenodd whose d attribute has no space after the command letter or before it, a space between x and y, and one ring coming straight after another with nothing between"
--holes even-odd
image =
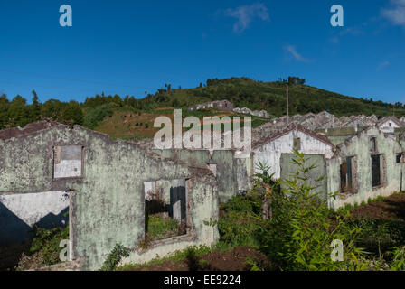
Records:
<instances>
[{"instance_id":1,"label":"large roofless moss-stained concrete building at left foreground","mask_svg":"<svg viewBox=\"0 0 405 289\"><path fill-rule=\"evenodd\" d=\"M203 223L218 218L211 171L161 161L137 144L81 126L37 127L0 140L2 244L23 241L33 224L69 221L70 259L94 270L118 243L132 248L127 262L142 262L219 238L215 226ZM156 187L156 198L171 218L181 220L184 232L142 251L137 245L145 238L146 206Z\"/></svg>"}]
</instances>

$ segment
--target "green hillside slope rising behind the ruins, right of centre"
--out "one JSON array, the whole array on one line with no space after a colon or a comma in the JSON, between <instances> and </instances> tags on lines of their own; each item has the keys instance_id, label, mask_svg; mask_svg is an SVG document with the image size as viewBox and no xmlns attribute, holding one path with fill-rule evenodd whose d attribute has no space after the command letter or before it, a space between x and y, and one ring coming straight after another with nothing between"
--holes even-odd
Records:
<instances>
[{"instance_id":1,"label":"green hillside slope rising behind the ruins, right of centre","mask_svg":"<svg viewBox=\"0 0 405 289\"><path fill-rule=\"evenodd\" d=\"M159 89L155 95L145 98L147 104L154 106L187 107L206 101L227 99L235 107L265 109L274 116L286 114L286 85L281 82L261 82L247 78L212 79L195 89ZM316 89L307 85L289 86L290 114L318 113L323 110L338 117L350 115L405 115L405 107L398 103L391 105L372 99L352 98Z\"/></svg>"}]
</instances>

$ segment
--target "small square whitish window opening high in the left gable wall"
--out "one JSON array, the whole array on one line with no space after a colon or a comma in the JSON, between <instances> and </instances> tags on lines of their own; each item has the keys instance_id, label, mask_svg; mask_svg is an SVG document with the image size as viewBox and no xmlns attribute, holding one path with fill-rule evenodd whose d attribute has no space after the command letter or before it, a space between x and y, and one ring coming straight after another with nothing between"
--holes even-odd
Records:
<instances>
[{"instance_id":1,"label":"small square whitish window opening high in the left gable wall","mask_svg":"<svg viewBox=\"0 0 405 289\"><path fill-rule=\"evenodd\" d=\"M53 148L53 178L83 176L83 146L65 145Z\"/></svg>"}]
</instances>

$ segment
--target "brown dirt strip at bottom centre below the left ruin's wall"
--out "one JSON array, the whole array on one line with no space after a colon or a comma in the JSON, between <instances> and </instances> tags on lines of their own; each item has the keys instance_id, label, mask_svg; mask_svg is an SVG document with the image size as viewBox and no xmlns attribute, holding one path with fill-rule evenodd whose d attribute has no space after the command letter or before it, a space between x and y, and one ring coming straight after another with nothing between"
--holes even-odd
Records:
<instances>
[{"instance_id":1,"label":"brown dirt strip at bottom centre below the left ruin's wall","mask_svg":"<svg viewBox=\"0 0 405 289\"><path fill-rule=\"evenodd\" d=\"M128 271L249 271L254 261L268 266L266 256L251 247L236 247L231 252L213 252L204 256L189 256L183 261L165 261L150 266L138 266Z\"/></svg>"}]
</instances>

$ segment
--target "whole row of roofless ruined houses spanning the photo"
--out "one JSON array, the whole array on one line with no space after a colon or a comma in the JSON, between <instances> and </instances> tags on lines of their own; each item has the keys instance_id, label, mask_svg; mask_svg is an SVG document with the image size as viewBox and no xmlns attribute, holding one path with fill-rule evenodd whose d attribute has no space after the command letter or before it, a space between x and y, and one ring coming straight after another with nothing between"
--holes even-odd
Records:
<instances>
[{"instance_id":1,"label":"whole row of roofless ruined houses spanning the photo","mask_svg":"<svg viewBox=\"0 0 405 289\"><path fill-rule=\"evenodd\" d=\"M0 245L32 238L34 226L69 223L69 259L81 270L99 269L116 244L131 249L122 264L209 246L219 239L212 220L219 218L220 202L250 191L258 163L274 179L289 178L297 172L294 149L316 165L311 180L325 176L316 191L331 209L402 191L400 120L310 129L308 118L256 128L251 152L242 156L235 150L157 150L56 122L0 131ZM154 200L184 231L141 247Z\"/></svg>"}]
</instances>

